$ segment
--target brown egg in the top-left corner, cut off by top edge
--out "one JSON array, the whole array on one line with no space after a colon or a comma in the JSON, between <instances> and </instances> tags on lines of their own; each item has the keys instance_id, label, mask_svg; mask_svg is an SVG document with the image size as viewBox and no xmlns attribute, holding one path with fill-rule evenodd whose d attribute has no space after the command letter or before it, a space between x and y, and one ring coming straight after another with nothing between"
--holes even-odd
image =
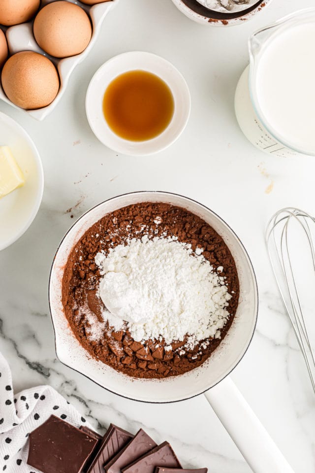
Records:
<instances>
[{"instance_id":1,"label":"brown egg in the top-left corner, cut off by top edge","mask_svg":"<svg viewBox=\"0 0 315 473\"><path fill-rule=\"evenodd\" d=\"M31 20L40 0L0 0L0 25L19 25Z\"/></svg>"}]
</instances>

